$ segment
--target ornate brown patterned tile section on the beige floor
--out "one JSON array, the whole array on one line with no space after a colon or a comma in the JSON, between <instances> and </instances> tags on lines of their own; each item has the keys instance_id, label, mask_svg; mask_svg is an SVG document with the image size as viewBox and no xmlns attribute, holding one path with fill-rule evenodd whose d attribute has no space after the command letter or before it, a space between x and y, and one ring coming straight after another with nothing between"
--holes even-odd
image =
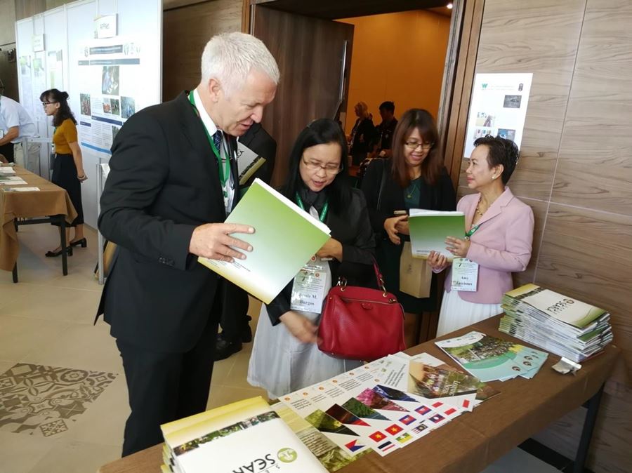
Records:
<instances>
[{"instance_id":1,"label":"ornate brown patterned tile section on the beige floor","mask_svg":"<svg viewBox=\"0 0 632 473\"><path fill-rule=\"evenodd\" d=\"M0 432L65 432L117 374L18 363L0 375Z\"/></svg>"}]
</instances>

